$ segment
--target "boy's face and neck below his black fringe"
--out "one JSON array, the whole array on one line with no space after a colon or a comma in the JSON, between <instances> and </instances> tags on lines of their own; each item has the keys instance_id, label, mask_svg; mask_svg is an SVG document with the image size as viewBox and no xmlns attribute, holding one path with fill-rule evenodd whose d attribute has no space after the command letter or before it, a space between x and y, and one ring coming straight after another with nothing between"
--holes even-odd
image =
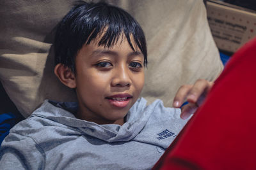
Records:
<instances>
[{"instance_id":1,"label":"boy's face and neck below his black fringe","mask_svg":"<svg viewBox=\"0 0 256 170\"><path fill-rule=\"evenodd\" d=\"M125 38L113 48L98 46L97 40L84 45L76 57L77 118L122 125L143 89L144 57Z\"/></svg>"}]
</instances>

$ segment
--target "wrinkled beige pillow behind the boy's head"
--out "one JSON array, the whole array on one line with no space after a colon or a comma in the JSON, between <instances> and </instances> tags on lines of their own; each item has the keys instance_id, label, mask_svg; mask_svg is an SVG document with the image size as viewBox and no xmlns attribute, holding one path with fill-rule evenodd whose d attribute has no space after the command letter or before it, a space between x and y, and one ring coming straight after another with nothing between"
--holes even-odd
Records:
<instances>
[{"instance_id":1,"label":"wrinkled beige pillow behind the boy's head","mask_svg":"<svg viewBox=\"0 0 256 170\"><path fill-rule=\"evenodd\" d=\"M223 69L198 0L109 0L141 24L148 43L142 96L172 106L177 89L198 78L214 80ZM0 80L24 117L44 99L76 101L53 73L54 28L74 1L5 1L0 6Z\"/></svg>"}]
</instances>

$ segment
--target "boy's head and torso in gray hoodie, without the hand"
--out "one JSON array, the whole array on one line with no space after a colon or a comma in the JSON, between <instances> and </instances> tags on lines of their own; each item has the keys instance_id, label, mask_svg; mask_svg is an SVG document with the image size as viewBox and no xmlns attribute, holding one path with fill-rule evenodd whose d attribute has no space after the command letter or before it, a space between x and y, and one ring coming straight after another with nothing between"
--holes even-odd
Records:
<instances>
[{"instance_id":1,"label":"boy's head and torso in gray hoodie, without the hand","mask_svg":"<svg viewBox=\"0 0 256 170\"><path fill-rule=\"evenodd\" d=\"M1 169L150 169L186 124L140 92L147 46L140 25L105 3L81 3L55 39L60 81L77 103L45 101L10 131Z\"/></svg>"}]
</instances>

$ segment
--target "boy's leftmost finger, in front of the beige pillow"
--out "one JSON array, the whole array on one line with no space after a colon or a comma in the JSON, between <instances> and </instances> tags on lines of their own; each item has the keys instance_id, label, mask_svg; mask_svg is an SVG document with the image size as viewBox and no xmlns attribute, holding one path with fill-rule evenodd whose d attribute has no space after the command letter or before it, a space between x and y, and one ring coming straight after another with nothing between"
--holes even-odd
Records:
<instances>
[{"instance_id":1,"label":"boy's leftmost finger, in front of the beige pillow","mask_svg":"<svg viewBox=\"0 0 256 170\"><path fill-rule=\"evenodd\" d=\"M177 91L174 99L173 99L173 107L179 108L182 103L184 103L186 97L188 96L188 92L191 89L192 85L182 85Z\"/></svg>"}]
</instances>

